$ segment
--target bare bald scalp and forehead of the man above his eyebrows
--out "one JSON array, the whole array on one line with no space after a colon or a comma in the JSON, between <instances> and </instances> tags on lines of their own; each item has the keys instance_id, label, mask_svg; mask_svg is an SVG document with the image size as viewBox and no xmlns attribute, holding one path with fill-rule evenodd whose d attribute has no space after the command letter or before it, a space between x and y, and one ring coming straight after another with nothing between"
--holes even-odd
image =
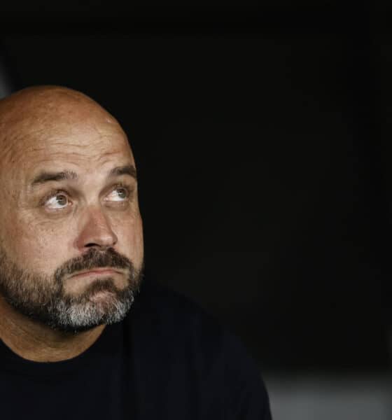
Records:
<instances>
[{"instance_id":1,"label":"bare bald scalp and forehead of the man above his eyebrows","mask_svg":"<svg viewBox=\"0 0 392 420\"><path fill-rule=\"evenodd\" d=\"M0 195L27 194L47 172L99 173L109 160L136 173L116 118L85 94L48 85L0 100Z\"/></svg>"}]
</instances>

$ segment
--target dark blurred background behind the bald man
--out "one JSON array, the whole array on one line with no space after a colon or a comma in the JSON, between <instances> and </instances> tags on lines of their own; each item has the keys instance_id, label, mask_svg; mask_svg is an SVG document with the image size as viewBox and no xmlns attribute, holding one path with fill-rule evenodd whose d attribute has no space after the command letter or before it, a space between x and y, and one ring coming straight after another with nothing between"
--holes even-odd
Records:
<instances>
[{"instance_id":1,"label":"dark blurred background behind the bald man","mask_svg":"<svg viewBox=\"0 0 392 420\"><path fill-rule=\"evenodd\" d=\"M0 96L65 85L120 120L146 276L241 337L275 420L392 418L391 11L1 3Z\"/></svg>"}]
</instances>

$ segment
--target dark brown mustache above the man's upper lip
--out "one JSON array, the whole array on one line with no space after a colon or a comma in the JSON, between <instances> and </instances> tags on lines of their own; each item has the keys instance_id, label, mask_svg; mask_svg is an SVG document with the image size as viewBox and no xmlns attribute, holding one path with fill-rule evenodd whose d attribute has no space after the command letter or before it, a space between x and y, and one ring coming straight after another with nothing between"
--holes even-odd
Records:
<instances>
[{"instance_id":1,"label":"dark brown mustache above the man's upper lip","mask_svg":"<svg viewBox=\"0 0 392 420\"><path fill-rule=\"evenodd\" d=\"M98 251L96 248L90 248L86 253L79 257L72 258L64 262L55 271L55 279L61 282L66 275L72 275L76 272L100 267L113 267L119 269L129 269L134 271L132 261L124 255L121 255L113 248L106 251Z\"/></svg>"}]
</instances>

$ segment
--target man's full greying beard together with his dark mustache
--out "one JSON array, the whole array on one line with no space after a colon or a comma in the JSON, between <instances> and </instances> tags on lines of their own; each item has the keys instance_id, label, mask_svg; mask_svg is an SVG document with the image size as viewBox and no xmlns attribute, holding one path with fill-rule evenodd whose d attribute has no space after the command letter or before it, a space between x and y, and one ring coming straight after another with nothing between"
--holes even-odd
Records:
<instances>
[{"instance_id":1,"label":"man's full greying beard together with his dark mustache","mask_svg":"<svg viewBox=\"0 0 392 420\"><path fill-rule=\"evenodd\" d=\"M64 279L81 270L113 267L127 272L127 286L119 289L111 276L95 279L78 295L66 294ZM14 309L35 321L63 332L90 330L97 325L122 321L139 291L142 270L113 248L96 248L73 258L56 269L52 276L22 269L0 248L0 293ZM109 292L101 301L91 297Z\"/></svg>"}]
</instances>

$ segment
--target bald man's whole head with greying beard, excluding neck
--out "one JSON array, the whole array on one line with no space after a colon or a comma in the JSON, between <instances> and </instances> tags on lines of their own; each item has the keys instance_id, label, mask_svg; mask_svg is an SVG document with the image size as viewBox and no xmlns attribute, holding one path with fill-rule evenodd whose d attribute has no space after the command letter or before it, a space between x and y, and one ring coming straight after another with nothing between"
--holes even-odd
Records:
<instances>
[{"instance_id":1,"label":"bald man's whole head with greying beard, excluding neck","mask_svg":"<svg viewBox=\"0 0 392 420\"><path fill-rule=\"evenodd\" d=\"M0 101L0 294L59 330L120 321L143 265L136 169L118 122L64 87Z\"/></svg>"}]
</instances>

